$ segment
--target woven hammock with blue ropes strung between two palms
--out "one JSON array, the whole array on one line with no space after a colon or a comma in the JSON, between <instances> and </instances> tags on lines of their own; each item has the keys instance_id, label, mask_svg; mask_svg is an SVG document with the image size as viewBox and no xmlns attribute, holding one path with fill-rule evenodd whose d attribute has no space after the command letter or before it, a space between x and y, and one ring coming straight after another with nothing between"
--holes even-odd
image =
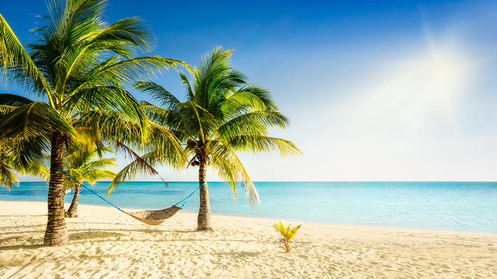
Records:
<instances>
[{"instance_id":1,"label":"woven hammock with blue ropes strung between two palms","mask_svg":"<svg viewBox=\"0 0 497 279\"><path fill-rule=\"evenodd\" d=\"M80 185L81 187L84 187L84 189L89 190L89 192L92 192L94 195L97 195L97 197L103 199L104 202L107 202L111 206L116 207L114 204L111 204L111 202L109 202L107 199L104 199L103 197L98 195L93 190L89 189L88 187L86 187L82 183L80 183L79 181L75 180L75 178L72 177L72 175L66 173L63 170L57 169L57 171L59 173L63 173L65 175L67 175L67 177L70 177L75 183L77 183L77 185ZM133 217L134 219L137 219L138 221L141 221L145 224L148 224L151 226L157 226L157 225L162 224L165 220L169 219L170 217L173 217L173 215L176 214L176 212L180 211L180 209L182 209L185 206L187 200L190 197L192 197L192 195L195 192L197 192L197 190L199 190L199 188L202 187L204 185L204 183L205 182L202 182L202 184L197 189L195 189L195 191L193 191L188 197L185 197L185 199L182 199L178 203L173 204L172 207L168 207L168 208L160 209L160 210L143 210L140 212L125 212L123 209L120 209L119 207L116 207L116 209L119 209L120 212L128 214L129 216ZM185 201L185 202L183 202L183 201ZM180 202L183 202L183 204L181 207L178 207L178 204L180 204Z\"/></svg>"}]
</instances>

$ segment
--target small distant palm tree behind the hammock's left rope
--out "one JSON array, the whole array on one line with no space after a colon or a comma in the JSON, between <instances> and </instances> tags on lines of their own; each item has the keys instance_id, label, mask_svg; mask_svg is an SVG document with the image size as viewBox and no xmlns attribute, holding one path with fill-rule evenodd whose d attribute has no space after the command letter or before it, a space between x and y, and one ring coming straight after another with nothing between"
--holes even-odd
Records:
<instances>
[{"instance_id":1,"label":"small distant palm tree behind the hammock's left rope","mask_svg":"<svg viewBox=\"0 0 497 279\"><path fill-rule=\"evenodd\" d=\"M73 187L75 192L71 205L67 209L67 212L65 212L65 217L70 218L77 217L77 205L80 200L81 190L80 183L86 181L94 185L98 180L105 178L113 179L116 177L116 173L112 170L101 170L101 168L108 168L111 165L117 166L115 158L102 158L101 156L102 152L111 152L110 148L94 148L92 151L87 151L79 147L72 149L65 157L65 173L70 175L70 177L66 176L64 179L65 186L67 188Z\"/></svg>"}]
</instances>

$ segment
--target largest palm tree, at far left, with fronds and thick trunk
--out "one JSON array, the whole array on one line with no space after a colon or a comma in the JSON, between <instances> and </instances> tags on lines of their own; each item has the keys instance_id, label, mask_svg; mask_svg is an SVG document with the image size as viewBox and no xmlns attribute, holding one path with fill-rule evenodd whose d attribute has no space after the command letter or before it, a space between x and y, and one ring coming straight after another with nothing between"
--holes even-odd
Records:
<instances>
[{"instance_id":1,"label":"largest palm tree, at far left, with fronds and thick trunk","mask_svg":"<svg viewBox=\"0 0 497 279\"><path fill-rule=\"evenodd\" d=\"M63 156L67 139L98 141L92 127L77 126L88 111L107 114L119 110L141 126L146 136L146 116L136 99L124 89L138 77L175 65L178 61L157 56L135 57L136 50L151 50L151 29L139 18L108 24L102 20L105 0L52 0L45 26L26 52L0 15L1 71L45 102L26 99L0 119L0 139L43 140L50 146L48 224L45 246L68 242L64 212ZM0 96L8 105L9 94ZM40 138L42 135L42 138ZM89 140L88 140L89 139Z\"/></svg>"}]
</instances>

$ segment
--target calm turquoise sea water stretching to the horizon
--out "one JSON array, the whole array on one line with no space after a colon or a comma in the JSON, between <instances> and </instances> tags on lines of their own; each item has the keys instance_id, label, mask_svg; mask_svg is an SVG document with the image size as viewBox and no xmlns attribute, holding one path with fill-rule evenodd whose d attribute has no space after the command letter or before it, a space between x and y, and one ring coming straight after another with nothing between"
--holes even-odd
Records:
<instances>
[{"instance_id":1,"label":"calm turquoise sea water stretching to the horizon","mask_svg":"<svg viewBox=\"0 0 497 279\"><path fill-rule=\"evenodd\" d=\"M118 207L163 209L198 187L197 182L131 182L109 198ZM329 224L361 224L417 229L444 229L497 234L497 182L254 182L261 207L252 208L239 190L234 202L229 186L209 182L213 213ZM92 190L105 197L109 182ZM46 201L45 182L21 182L11 191L0 187L2 200ZM72 193L65 197L70 202ZM80 202L108 205L82 188ZM198 192L184 209L198 210Z\"/></svg>"}]
</instances>

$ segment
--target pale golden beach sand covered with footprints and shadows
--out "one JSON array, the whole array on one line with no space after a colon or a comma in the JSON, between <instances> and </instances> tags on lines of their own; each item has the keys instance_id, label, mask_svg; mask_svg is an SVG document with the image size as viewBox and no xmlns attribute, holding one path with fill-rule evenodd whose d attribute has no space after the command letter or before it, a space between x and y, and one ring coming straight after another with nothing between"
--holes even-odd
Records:
<instances>
[{"instance_id":1,"label":"pale golden beach sand covered with footprints and shadows","mask_svg":"<svg viewBox=\"0 0 497 279\"><path fill-rule=\"evenodd\" d=\"M214 215L197 232L193 212L148 226L80 204L70 244L44 247L46 212L0 201L0 278L497 278L497 234L304 223L285 253L278 220Z\"/></svg>"}]
</instances>

